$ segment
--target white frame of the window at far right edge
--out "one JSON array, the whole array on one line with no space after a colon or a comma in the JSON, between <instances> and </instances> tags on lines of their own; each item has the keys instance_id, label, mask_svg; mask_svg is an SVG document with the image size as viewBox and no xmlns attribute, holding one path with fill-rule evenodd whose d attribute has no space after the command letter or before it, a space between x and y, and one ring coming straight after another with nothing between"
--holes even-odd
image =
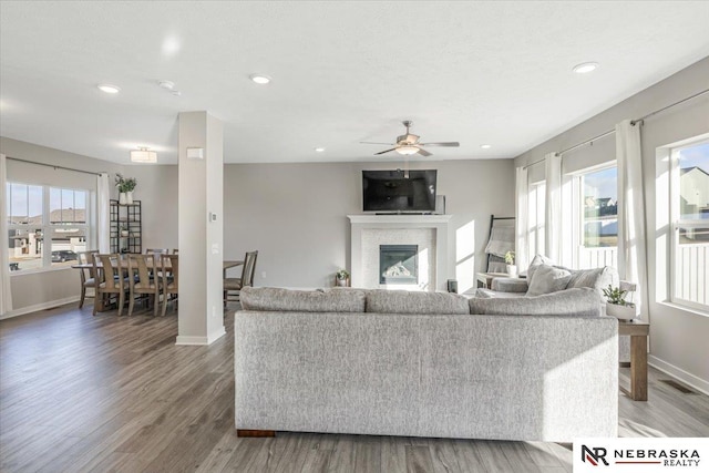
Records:
<instances>
[{"instance_id":1,"label":"white frame of the window at far right edge","mask_svg":"<svg viewBox=\"0 0 709 473\"><path fill-rule=\"evenodd\" d=\"M680 228L706 228L707 220L701 219L682 219L680 210L680 177L681 168L679 165L679 153L688 147L695 147L702 144L709 144L709 138L698 138L693 141L682 142L676 146L669 147L669 278L668 278L668 300L687 309L698 310L703 313L709 313L709 304L700 304L693 300L682 299L677 297L677 258L679 249L679 230Z\"/></svg>"}]
</instances>

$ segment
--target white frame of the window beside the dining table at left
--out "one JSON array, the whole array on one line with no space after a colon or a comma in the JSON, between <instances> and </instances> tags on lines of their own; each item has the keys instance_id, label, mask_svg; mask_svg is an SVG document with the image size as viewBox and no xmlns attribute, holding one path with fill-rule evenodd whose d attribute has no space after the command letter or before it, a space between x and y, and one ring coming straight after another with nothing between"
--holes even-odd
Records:
<instances>
[{"instance_id":1,"label":"white frame of the window beside the dining table at left","mask_svg":"<svg viewBox=\"0 0 709 473\"><path fill-rule=\"evenodd\" d=\"M56 271L56 270L62 270L62 269L71 269L70 266L64 266L64 265L53 265L52 264L52 239L54 237L54 235L56 235L56 230L58 229L62 229L62 228L68 228L68 225L65 224L51 224L50 223L50 215L51 215L51 207L50 207L50 200L51 200L51 189L59 189L60 192L63 191L72 191L72 192L83 192L85 194L85 209L84 209L84 223L83 224L71 224L70 226L72 228L80 228L84 230L84 240L86 243L86 245L89 245L89 241L92 241L92 236L93 233L95 233L95 228L93 225L93 222L91 220L90 216L92 215L92 205L93 205L93 192L92 189L88 189L88 188L73 188L73 187L62 187L59 185L51 185L51 184L35 184L35 183L27 183L27 182L20 182L20 181L8 181L7 182L8 188L10 188L11 185L23 185L23 186L34 186L34 187L41 187L42 188L42 223L41 225L30 225L30 224L10 224L9 222L7 223L7 229L8 233L10 230L13 229L21 229L21 230L25 230L25 232L31 232L37 229L38 227L41 228L42 232L42 236L43 236L43 250L42 250L42 258L41 258L41 266L38 268L27 268L27 269L19 269L19 270L14 270L14 271L9 271L10 276L19 276L19 275L30 275L30 274L38 274L38 273L47 273L47 271ZM75 197L74 197L75 198ZM8 215L8 218L10 217L10 215ZM28 215L29 217L29 215ZM9 238L9 235L4 238ZM47 243L49 241L49 248L47 248ZM9 247L8 248L2 248L3 251L9 251Z\"/></svg>"}]
</instances>

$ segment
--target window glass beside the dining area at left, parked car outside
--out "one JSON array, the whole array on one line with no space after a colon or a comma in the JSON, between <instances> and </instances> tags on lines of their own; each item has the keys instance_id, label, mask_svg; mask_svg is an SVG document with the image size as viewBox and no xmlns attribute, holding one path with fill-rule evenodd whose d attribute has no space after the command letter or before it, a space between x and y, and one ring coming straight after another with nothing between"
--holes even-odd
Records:
<instances>
[{"instance_id":1,"label":"window glass beside the dining area at left, parked car outside","mask_svg":"<svg viewBox=\"0 0 709 473\"><path fill-rule=\"evenodd\" d=\"M8 183L6 197L11 270L69 266L86 249L88 191Z\"/></svg>"}]
</instances>

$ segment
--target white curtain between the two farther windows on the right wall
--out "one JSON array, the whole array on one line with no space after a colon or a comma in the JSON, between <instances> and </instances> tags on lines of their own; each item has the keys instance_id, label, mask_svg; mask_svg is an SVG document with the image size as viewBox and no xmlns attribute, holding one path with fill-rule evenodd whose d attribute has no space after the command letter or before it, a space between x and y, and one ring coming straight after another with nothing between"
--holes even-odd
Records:
<instances>
[{"instance_id":1,"label":"white curtain between the two farther windows on the right wall","mask_svg":"<svg viewBox=\"0 0 709 473\"><path fill-rule=\"evenodd\" d=\"M562 261L562 156L548 153L546 165L546 223L544 253L553 261Z\"/></svg>"}]
</instances>

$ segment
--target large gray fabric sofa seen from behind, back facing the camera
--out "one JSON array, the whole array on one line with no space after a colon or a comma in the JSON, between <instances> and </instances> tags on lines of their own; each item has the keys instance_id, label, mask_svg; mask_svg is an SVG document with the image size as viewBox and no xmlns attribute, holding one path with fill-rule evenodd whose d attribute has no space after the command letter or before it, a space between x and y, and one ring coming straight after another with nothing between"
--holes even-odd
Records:
<instances>
[{"instance_id":1,"label":"large gray fabric sofa seen from behind, back facing the camera","mask_svg":"<svg viewBox=\"0 0 709 473\"><path fill-rule=\"evenodd\" d=\"M617 320L600 316L592 289L524 301L359 289L244 288L240 297L239 430L617 434Z\"/></svg>"}]
</instances>

